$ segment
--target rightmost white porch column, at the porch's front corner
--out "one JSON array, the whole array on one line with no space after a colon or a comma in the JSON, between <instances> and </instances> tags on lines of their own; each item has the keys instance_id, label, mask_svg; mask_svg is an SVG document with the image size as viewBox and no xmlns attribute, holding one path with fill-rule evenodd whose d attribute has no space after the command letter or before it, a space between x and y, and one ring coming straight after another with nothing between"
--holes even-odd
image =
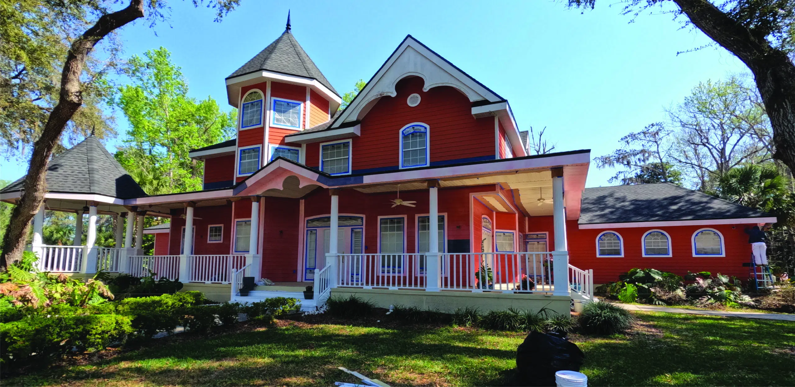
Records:
<instances>
[{"instance_id":1,"label":"rightmost white porch column, at the porch's front corner","mask_svg":"<svg viewBox=\"0 0 795 387\"><path fill-rule=\"evenodd\" d=\"M555 251L553 251L553 279L556 296L568 296L568 251L566 251L566 211L563 199L563 168L552 170L553 224Z\"/></svg>"}]
</instances>

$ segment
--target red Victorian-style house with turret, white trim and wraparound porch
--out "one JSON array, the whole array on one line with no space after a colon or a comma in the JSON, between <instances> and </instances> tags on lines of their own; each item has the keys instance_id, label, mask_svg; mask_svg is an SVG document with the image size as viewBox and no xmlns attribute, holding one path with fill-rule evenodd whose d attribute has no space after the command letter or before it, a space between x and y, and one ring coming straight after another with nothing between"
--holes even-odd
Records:
<instances>
[{"instance_id":1,"label":"red Victorian-style house with turret, white trim and wraparound porch","mask_svg":"<svg viewBox=\"0 0 795 387\"><path fill-rule=\"evenodd\" d=\"M305 308L354 293L379 305L566 312L633 267L743 277L743 229L775 221L670 184L586 189L590 151L529 155L506 98L412 36L345 109L289 25L226 85L238 136L190 153L204 161L204 190L60 194L94 213L115 200L107 213L126 212L128 236L136 214L171 218L145 231L157 255L119 243L115 270L238 301L303 298L313 285ZM107 266L94 250L83 266ZM277 285L241 297L244 277Z\"/></svg>"}]
</instances>

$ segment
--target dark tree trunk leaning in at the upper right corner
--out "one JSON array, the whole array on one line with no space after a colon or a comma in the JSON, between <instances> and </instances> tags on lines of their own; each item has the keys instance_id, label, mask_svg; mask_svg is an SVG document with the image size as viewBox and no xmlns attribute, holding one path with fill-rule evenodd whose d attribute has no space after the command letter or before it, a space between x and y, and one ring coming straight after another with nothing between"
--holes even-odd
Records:
<instances>
[{"instance_id":1,"label":"dark tree trunk leaning in at the upper right corner","mask_svg":"<svg viewBox=\"0 0 795 387\"><path fill-rule=\"evenodd\" d=\"M673 0L693 25L746 63L773 127L773 157L795 171L795 64L707 0Z\"/></svg>"}]
</instances>

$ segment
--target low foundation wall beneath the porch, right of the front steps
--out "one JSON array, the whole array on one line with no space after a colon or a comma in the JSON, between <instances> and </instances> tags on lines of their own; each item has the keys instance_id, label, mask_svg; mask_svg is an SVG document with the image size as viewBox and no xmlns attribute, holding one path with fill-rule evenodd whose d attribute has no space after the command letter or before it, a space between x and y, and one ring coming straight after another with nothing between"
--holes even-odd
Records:
<instances>
[{"instance_id":1,"label":"low foundation wall beneath the porch, right of the front steps","mask_svg":"<svg viewBox=\"0 0 795 387\"><path fill-rule=\"evenodd\" d=\"M417 306L423 309L436 309L440 312L453 312L456 308L479 308L480 312L516 308L537 311L551 309L556 314L568 316L571 312L571 298L545 294L514 293L468 293L468 292L425 292L421 290L389 289L351 289L334 288L332 297L354 295L373 301L378 307L390 305Z\"/></svg>"}]
</instances>

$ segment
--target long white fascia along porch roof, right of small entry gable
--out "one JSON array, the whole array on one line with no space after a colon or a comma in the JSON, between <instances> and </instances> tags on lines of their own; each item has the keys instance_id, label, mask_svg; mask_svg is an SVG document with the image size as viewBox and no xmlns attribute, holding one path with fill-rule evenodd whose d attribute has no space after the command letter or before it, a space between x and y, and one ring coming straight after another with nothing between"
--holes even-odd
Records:
<instances>
[{"instance_id":1,"label":"long white fascia along porch roof, right of small entry gable","mask_svg":"<svg viewBox=\"0 0 795 387\"><path fill-rule=\"evenodd\" d=\"M502 171L523 171L561 167L565 165L586 164L591 161L591 152L575 155L556 155L537 159L504 159L496 163L470 164L454 167L429 168L421 170L401 170L388 174L370 174L363 176L363 184L382 182L400 182L426 178L449 178L473 174L488 174ZM352 186L352 185L351 185Z\"/></svg>"}]
</instances>

